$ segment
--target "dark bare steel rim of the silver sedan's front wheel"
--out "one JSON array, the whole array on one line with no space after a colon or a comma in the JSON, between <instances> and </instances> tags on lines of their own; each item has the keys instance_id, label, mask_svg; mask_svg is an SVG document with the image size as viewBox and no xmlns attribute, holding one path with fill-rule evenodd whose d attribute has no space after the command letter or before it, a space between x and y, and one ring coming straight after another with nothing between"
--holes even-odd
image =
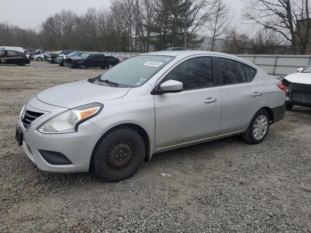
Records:
<instances>
[{"instance_id":1,"label":"dark bare steel rim of the silver sedan's front wheel","mask_svg":"<svg viewBox=\"0 0 311 233\"><path fill-rule=\"evenodd\" d=\"M134 157L134 145L129 140L118 140L106 151L105 165L115 172L120 171L131 166Z\"/></svg>"}]
</instances>

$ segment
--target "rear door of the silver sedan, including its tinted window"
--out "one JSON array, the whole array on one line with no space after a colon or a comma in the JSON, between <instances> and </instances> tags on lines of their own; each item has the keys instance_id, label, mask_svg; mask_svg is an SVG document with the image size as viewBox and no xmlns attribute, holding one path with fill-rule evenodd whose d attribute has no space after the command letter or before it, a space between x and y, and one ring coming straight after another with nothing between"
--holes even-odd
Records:
<instances>
[{"instance_id":1,"label":"rear door of the silver sedan, including its tinted window","mask_svg":"<svg viewBox=\"0 0 311 233\"><path fill-rule=\"evenodd\" d=\"M222 77L223 110L220 134L246 128L263 102L263 85L259 72L242 61L218 58Z\"/></svg>"}]
</instances>

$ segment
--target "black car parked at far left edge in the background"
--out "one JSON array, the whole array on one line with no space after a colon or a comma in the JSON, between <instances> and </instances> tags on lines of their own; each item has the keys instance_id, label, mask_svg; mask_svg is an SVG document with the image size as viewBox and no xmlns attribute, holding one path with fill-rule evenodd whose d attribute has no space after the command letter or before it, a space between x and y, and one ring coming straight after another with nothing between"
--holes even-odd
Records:
<instances>
[{"instance_id":1,"label":"black car parked at far left edge in the background","mask_svg":"<svg viewBox=\"0 0 311 233\"><path fill-rule=\"evenodd\" d=\"M18 66L25 66L29 64L30 60L26 53L13 50L0 51L0 64L16 64Z\"/></svg>"}]
</instances>

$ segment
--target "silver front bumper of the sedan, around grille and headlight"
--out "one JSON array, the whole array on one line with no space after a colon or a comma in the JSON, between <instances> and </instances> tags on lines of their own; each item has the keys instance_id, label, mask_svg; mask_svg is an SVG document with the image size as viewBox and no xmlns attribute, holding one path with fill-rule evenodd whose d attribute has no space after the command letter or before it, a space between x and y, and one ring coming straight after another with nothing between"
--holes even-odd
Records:
<instances>
[{"instance_id":1,"label":"silver front bumper of the sedan, around grille and headlight","mask_svg":"<svg viewBox=\"0 0 311 233\"><path fill-rule=\"evenodd\" d=\"M37 128L52 116L67 109L43 103L36 98L29 100L25 109L44 113L36 118L27 129L21 121L18 124L23 133L22 147L28 158L39 169L63 173L88 171L93 149L103 133L101 128L90 121L85 121L79 125L76 133L44 134L38 132ZM44 109L44 111L38 109ZM61 153L71 163L69 165L50 164L47 159L43 158L41 154L43 150Z\"/></svg>"}]
</instances>

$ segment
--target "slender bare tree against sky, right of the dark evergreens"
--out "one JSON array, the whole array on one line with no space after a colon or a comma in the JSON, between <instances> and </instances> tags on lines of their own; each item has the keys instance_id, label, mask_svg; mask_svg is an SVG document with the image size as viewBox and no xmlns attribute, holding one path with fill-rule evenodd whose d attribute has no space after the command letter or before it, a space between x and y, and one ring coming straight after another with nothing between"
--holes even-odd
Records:
<instances>
[{"instance_id":1,"label":"slender bare tree against sky, right of the dark evergreens","mask_svg":"<svg viewBox=\"0 0 311 233\"><path fill-rule=\"evenodd\" d=\"M215 41L225 33L233 19L231 4L224 0L215 0L215 7L215 16L207 24L207 29L212 33L211 51L214 51Z\"/></svg>"}]
</instances>

